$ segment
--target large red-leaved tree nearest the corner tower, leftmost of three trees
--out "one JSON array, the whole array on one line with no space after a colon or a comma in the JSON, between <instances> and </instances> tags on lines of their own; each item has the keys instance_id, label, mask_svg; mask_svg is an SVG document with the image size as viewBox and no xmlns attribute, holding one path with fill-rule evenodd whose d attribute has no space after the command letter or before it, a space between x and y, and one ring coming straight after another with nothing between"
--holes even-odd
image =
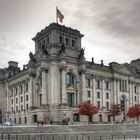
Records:
<instances>
[{"instance_id":1,"label":"large red-leaved tree nearest the corner tower, leftmost of three trees","mask_svg":"<svg viewBox=\"0 0 140 140\"><path fill-rule=\"evenodd\" d=\"M86 115L86 116L92 116L94 114L97 114L99 109L92 105L89 101L85 101L79 105L79 114L80 115Z\"/></svg>"}]
</instances>

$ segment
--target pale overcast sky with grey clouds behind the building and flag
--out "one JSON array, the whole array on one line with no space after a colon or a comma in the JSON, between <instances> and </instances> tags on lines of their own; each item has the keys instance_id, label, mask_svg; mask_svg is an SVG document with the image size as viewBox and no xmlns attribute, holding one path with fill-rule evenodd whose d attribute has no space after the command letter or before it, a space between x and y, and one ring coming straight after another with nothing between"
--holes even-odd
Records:
<instances>
[{"instance_id":1,"label":"pale overcast sky with grey clouds behind the building and flag","mask_svg":"<svg viewBox=\"0 0 140 140\"><path fill-rule=\"evenodd\" d=\"M108 64L140 58L140 0L0 0L1 68L10 60L21 68L28 63L32 38L56 22L56 6L63 24L85 35L86 60Z\"/></svg>"}]
</instances>

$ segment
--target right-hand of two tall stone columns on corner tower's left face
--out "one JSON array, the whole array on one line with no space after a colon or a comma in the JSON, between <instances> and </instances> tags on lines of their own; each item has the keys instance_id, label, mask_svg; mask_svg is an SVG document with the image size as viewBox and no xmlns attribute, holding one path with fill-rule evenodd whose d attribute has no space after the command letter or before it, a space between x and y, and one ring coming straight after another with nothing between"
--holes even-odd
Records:
<instances>
[{"instance_id":1,"label":"right-hand of two tall stone columns on corner tower's left face","mask_svg":"<svg viewBox=\"0 0 140 140\"><path fill-rule=\"evenodd\" d=\"M47 68L42 67L42 104L46 105L48 103L47 99Z\"/></svg>"}]
</instances>

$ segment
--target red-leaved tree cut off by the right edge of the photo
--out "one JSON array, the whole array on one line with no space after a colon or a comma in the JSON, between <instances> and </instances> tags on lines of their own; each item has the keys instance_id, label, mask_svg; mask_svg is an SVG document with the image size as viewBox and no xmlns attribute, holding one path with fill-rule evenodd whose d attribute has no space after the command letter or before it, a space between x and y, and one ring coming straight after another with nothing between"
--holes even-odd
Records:
<instances>
[{"instance_id":1,"label":"red-leaved tree cut off by the right edge of the photo","mask_svg":"<svg viewBox=\"0 0 140 140\"><path fill-rule=\"evenodd\" d=\"M140 105L134 105L132 107L129 107L129 110L127 112L127 116L130 118L137 118L137 122L139 122L139 117L140 117Z\"/></svg>"}]
</instances>

